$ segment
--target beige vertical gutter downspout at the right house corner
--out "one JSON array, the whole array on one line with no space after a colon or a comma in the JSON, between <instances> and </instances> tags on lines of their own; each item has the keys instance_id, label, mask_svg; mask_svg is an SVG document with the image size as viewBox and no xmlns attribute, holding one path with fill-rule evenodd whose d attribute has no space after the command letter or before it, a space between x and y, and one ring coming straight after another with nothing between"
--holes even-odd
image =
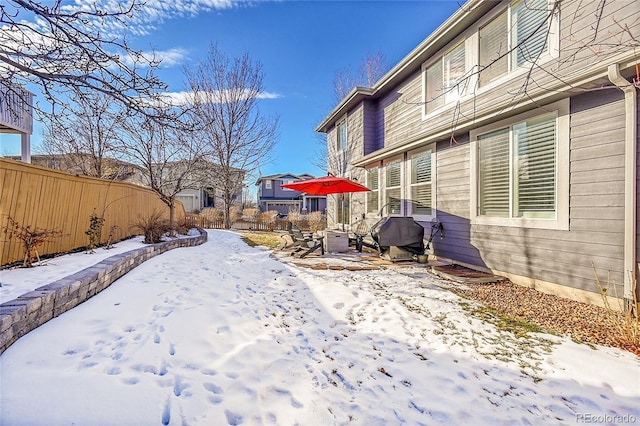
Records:
<instances>
[{"instance_id":1,"label":"beige vertical gutter downspout at the right house corner","mask_svg":"<svg viewBox=\"0 0 640 426\"><path fill-rule=\"evenodd\" d=\"M636 87L620 74L618 64L609 65L609 81L624 92L625 151L624 151L624 302L625 311L632 306L636 282L636 214L637 214L637 143L638 143L638 95ZM637 291L637 289L636 289Z\"/></svg>"}]
</instances>

